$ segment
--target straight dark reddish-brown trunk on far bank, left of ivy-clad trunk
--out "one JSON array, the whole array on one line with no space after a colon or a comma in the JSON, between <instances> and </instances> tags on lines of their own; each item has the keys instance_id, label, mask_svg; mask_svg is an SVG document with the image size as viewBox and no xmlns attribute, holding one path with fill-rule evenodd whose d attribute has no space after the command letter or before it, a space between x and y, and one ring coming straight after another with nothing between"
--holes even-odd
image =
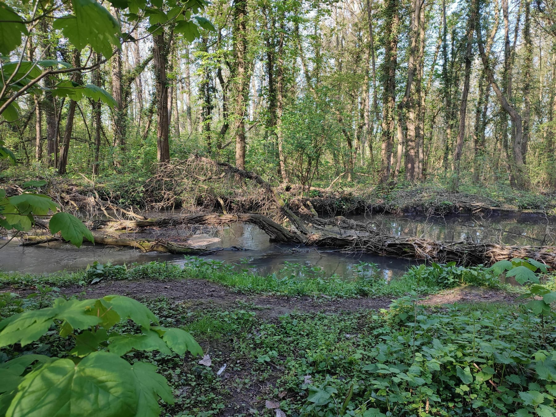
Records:
<instances>
[{"instance_id":1,"label":"straight dark reddish-brown trunk on far bank, left of ivy-clad trunk","mask_svg":"<svg viewBox=\"0 0 556 417\"><path fill-rule=\"evenodd\" d=\"M170 160L170 143L168 142L168 85L166 82L166 42L164 29L153 35L153 59L155 63L156 94L156 149L158 162Z\"/></svg>"}]
</instances>

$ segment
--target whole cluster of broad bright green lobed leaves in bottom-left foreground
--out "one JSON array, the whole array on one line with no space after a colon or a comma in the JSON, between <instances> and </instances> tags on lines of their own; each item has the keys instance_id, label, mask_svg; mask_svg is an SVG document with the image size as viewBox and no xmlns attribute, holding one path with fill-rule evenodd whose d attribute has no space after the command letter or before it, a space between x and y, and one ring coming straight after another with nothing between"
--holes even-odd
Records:
<instances>
[{"instance_id":1,"label":"whole cluster of broad bright green lobed leaves in bottom-left foreground","mask_svg":"<svg viewBox=\"0 0 556 417\"><path fill-rule=\"evenodd\" d=\"M113 327L130 319L137 334L121 334ZM152 325L154 324L154 325ZM51 334L71 338L72 358L27 354L0 364L0 414L10 416L157 416L158 399L173 404L166 379L156 366L128 363L126 353L202 355L185 330L158 326L157 317L143 304L120 295L101 299L58 298L52 307L24 311L0 322L0 347L36 342Z\"/></svg>"}]
</instances>

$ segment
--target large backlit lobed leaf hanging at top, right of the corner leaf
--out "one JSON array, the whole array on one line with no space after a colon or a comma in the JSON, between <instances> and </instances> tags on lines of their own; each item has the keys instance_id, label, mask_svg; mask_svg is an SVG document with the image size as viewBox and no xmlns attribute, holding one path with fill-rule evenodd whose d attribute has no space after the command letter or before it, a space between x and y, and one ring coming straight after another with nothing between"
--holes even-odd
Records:
<instances>
[{"instance_id":1,"label":"large backlit lobed leaf hanging at top, right of the corner leaf","mask_svg":"<svg viewBox=\"0 0 556 417\"><path fill-rule=\"evenodd\" d=\"M120 25L96 0L72 0L73 15L54 20L54 29L62 29L77 49L90 44L96 52L106 57L112 55L113 47L120 48Z\"/></svg>"}]
</instances>

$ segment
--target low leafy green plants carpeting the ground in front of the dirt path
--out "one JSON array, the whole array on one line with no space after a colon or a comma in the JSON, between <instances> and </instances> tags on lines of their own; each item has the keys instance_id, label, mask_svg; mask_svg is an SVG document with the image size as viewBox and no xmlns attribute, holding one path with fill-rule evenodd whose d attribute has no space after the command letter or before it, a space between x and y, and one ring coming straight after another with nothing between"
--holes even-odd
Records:
<instances>
[{"instance_id":1,"label":"low leafy green plants carpeting the ground in front of the dirt path","mask_svg":"<svg viewBox=\"0 0 556 417\"><path fill-rule=\"evenodd\" d=\"M417 300L409 294L385 311L295 313L276 321L241 306L195 310L151 299L146 305L160 325L190 332L212 364L156 350L125 358L158 367L176 398L162 406L181 417L274 414L251 405L266 400L303 416L556 413L552 315L483 304L425 309ZM137 327L124 323L118 331L130 329ZM26 349L66 358L73 346L48 332Z\"/></svg>"}]
</instances>

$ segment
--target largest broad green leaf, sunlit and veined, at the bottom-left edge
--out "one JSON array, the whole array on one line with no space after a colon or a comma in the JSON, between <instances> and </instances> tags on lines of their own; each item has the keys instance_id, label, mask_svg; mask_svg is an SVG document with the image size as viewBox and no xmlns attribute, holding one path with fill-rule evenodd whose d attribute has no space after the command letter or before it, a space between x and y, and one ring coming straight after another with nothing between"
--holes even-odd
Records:
<instances>
[{"instance_id":1,"label":"largest broad green leaf, sunlit and veined, at the bottom-left edge","mask_svg":"<svg viewBox=\"0 0 556 417\"><path fill-rule=\"evenodd\" d=\"M58 359L24 377L6 416L136 415L136 385L117 355L93 352L77 365Z\"/></svg>"}]
</instances>

